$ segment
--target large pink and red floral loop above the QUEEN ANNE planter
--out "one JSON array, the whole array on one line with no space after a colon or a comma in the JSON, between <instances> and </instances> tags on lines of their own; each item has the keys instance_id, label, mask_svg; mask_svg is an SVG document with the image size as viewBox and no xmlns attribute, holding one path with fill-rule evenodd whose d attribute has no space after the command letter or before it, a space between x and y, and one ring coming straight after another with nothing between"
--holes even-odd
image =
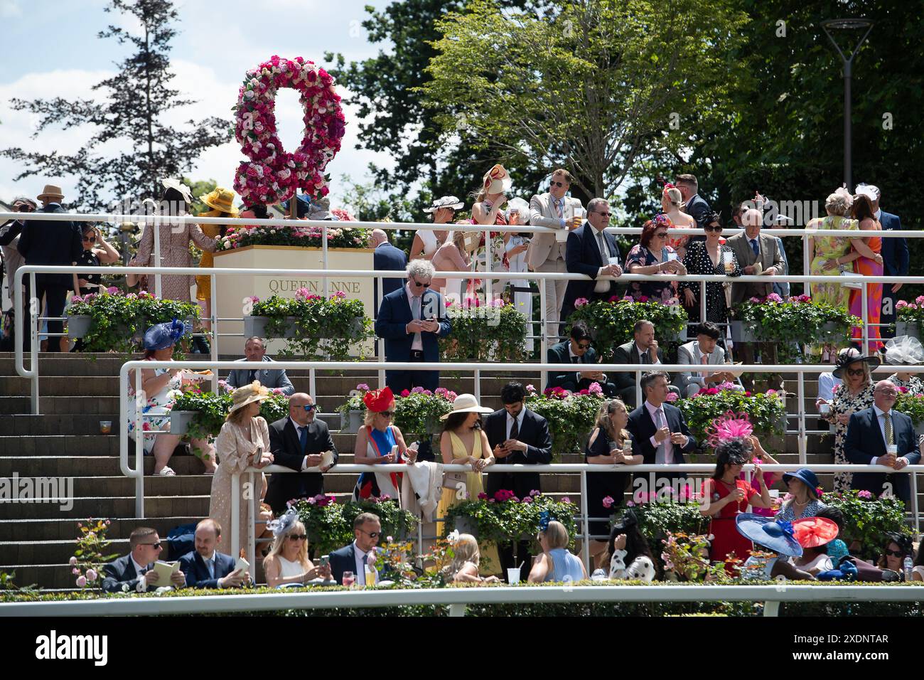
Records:
<instances>
[{"instance_id":1,"label":"large pink and red floral loop above the QUEEN ANNE planter","mask_svg":"<svg viewBox=\"0 0 924 680\"><path fill-rule=\"evenodd\" d=\"M301 144L286 152L276 136L276 91L297 90L305 112ZM251 207L277 204L298 189L321 197L327 194L324 167L340 151L344 114L334 79L314 62L274 56L251 68L237 93L235 137L250 160L237 167L234 189Z\"/></svg>"}]
</instances>

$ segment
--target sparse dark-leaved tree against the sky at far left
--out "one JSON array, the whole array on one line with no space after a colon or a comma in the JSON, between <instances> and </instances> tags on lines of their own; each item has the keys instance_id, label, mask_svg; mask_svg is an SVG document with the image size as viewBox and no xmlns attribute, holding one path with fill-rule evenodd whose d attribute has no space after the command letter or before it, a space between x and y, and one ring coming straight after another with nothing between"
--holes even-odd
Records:
<instances>
[{"instance_id":1,"label":"sparse dark-leaved tree against the sky at far left","mask_svg":"<svg viewBox=\"0 0 924 680\"><path fill-rule=\"evenodd\" d=\"M169 0L111 0L106 12L121 12L140 23L140 34L110 25L99 38L129 43L135 54L116 64L116 75L93 86L104 93L104 102L91 99L69 102L61 97L31 102L13 99L16 110L37 114L40 119L33 138L43 130L60 126L65 130L90 125L95 130L73 155L26 152L19 147L5 149L5 155L26 167L16 179L33 175L77 178L78 201L83 209L103 209L112 197L138 198L159 195L159 179L178 177L188 171L202 151L227 142L230 122L210 117L189 120L185 129L164 121L176 108L193 104L179 98L169 87L170 42L178 19ZM128 142L125 151L112 152L110 142Z\"/></svg>"}]
</instances>

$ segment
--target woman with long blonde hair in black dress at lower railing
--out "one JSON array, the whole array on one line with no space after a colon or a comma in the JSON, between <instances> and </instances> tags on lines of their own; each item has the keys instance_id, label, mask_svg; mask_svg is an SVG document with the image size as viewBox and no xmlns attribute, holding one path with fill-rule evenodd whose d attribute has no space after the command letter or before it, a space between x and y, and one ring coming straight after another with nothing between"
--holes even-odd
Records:
<instances>
[{"instance_id":1,"label":"woman with long blonde hair in black dress at lower railing","mask_svg":"<svg viewBox=\"0 0 924 680\"><path fill-rule=\"evenodd\" d=\"M632 435L626 429L629 412L618 399L604 403L597 413L597 424L584 450L584 462L591 465L638 465L641 453L632 453ZM627 472L589 472L587 474L587 510L590 517L609 517L623 504L629 477ZM590 522L591 536L606 536L610 523ZM590 541L590 554L598 555L606 549L605 539ZM605 565L600 564L599 566Z\"/></svg>"}]
</instances>

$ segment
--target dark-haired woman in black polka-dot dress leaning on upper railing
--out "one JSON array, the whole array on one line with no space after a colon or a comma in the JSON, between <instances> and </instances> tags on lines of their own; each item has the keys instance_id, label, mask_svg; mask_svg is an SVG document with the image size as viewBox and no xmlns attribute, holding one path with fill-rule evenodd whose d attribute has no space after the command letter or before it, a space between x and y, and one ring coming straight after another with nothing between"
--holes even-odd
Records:
<instances>
[{"instance_id":1,"label":"dark-haired woman in black polka-dot dress leaning on upper railing","mask_svg":"<svg viewBox=\"0 0 924 680\"><path fill-rule=\"evenodd\" d=\"M735 251L722 242L722 216L711 213L703 230L706 232L705 241L690 241L687 244L687 256L684 258L687 274L740 277L741 268L738 266ZM721 281L706 282L706 320L713 324L728 323L725 285ZM701 291L698 281L683 281L680 284L680 294L683 295L691 326L700 320Z\"/></svg>"}]
</instances>

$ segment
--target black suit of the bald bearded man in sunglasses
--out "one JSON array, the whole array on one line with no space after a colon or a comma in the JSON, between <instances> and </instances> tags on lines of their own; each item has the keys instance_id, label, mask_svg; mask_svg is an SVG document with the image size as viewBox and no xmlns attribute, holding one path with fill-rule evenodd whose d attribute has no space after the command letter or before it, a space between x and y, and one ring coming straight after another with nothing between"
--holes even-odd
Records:
<instances>
[{"instance_id":1,"label":"black suit of the bald bearded man in sunglasses","mask_svg":"<svg viewBox=\"0 0 924 680\"><path fill-rule=\"evenodd\" d=\"M298 441L298 430L287 415L282 420L270 424L270 450L273 452L275 464L285 465L293 470L301 470L305 456L312 453L334 451L334 465L339 458L327 424L317 415L308 424L308 444L304 452L301 451L301 443ZM320 472L302 472L298 475L284 473L271 477L269 488L266 489L266 502L273 508L274 513L283 513L286 511L286 501L310 498L323 492L324 476Z\"/></svg>"}]
</instances>

